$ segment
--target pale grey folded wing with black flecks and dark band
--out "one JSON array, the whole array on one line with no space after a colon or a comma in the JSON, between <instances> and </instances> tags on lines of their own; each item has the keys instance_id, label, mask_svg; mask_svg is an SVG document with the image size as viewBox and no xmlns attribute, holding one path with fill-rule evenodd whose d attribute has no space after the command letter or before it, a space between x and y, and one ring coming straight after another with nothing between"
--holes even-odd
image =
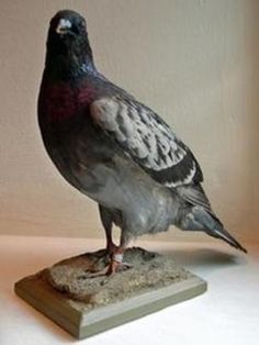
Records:
<instances>
[{"instance_id":1,"label":"pale grey folded wing with black flecks and dark band","mask_svg":"<svg viewBox=\"0 0 259 345\"><path fill-rule=\"evenodd\" d=\"M191 151L155 112L135 99L105 97L90 105L91 116L156 181L176 188L203 180Z\"/></svg>"}]
</instances>

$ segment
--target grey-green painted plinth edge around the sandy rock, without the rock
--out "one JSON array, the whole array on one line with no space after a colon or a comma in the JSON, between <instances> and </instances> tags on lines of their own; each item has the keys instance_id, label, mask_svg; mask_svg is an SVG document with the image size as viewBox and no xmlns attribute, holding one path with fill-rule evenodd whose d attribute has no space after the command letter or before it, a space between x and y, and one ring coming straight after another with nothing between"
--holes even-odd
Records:
<instances>
[{"instance_id":1,"label":"grey-green painted plinth edge around the sandy rock, without the rock","mask_svg":"<svg viewBox=\"0 0 259 345\"><path fill-rule=\"evenodd\" d=\"M16 294L77 338L89 337L206 290L204 280L188 272L184 280L89 309L86 301L71 299L57 291L41 276L40 272L18 281L14 287Z\"/></svg>"}]
</instances>

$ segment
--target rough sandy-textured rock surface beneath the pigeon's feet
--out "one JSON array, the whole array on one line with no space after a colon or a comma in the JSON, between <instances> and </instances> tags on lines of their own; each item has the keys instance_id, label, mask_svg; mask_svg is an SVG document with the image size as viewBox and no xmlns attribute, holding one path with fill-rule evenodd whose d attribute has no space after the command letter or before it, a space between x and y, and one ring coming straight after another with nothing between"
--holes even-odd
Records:
<instances>
[{"instance_id":1,"label":"rough sandy-textured rock surface beneath the pigeon's feet","mask_svg":"<svg viewBox=\"0 0 259 345\"><path fill-rule=\"evenodd\" d=\"M124 260L133 267L114 276L89 278L92 271L104 268L109 261L105 252L99 251L65 259L40 275L56 290L86 302L88 309L159 289L191 276L171 258L139 247L128 248Z\"/></svg>"}]
</instances>

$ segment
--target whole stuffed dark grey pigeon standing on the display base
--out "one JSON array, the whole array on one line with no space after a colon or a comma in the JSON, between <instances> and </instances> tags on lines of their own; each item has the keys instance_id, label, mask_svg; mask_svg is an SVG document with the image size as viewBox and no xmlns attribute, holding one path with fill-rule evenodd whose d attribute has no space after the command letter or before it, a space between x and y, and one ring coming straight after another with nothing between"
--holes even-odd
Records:
<instances>
[{"instance_id":1,"label":"whole stuffed dark grey pigeon standing on the display base","mask_svg":"<svg viewBox=\"0 0 259 345\"><path fill-rule=\"evenodd\" d=\"M110 261L97 275L126 268L132 238L171 224L246 252L213 212L192 152L156 112L95 68L86 21L70 10L50 21L38 122L59 172L99 204ZM121 227L119 246L113 224Z\"/></svg>"}]
</instances>

